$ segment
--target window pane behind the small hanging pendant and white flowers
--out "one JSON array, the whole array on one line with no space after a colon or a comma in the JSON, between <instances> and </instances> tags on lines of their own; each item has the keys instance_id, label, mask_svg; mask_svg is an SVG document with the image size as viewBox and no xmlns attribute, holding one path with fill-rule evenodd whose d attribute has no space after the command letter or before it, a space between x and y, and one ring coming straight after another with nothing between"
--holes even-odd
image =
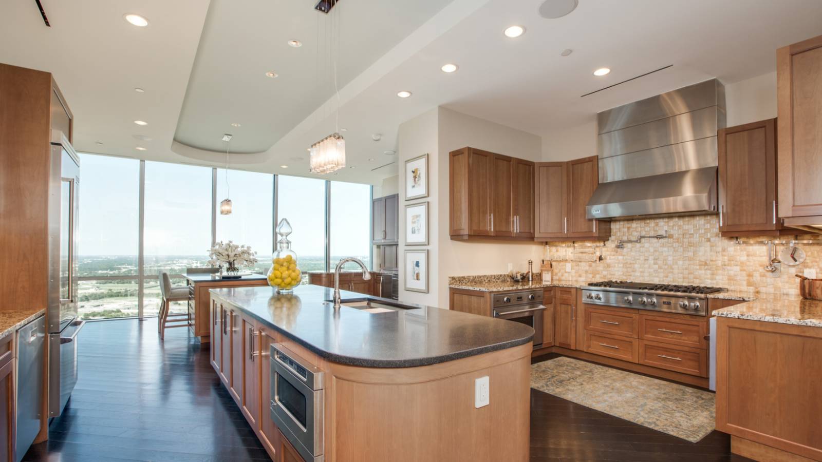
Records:
<instances>
[{"instance_id":1,"label":"window pane behind the small hanging pendant and white flowers","mask_svg":"<svg viewBox=\"0 0 822 462\"><path fill-rule=\"evenodd\" d=\"M226 180L228 179L228 183ZM266 274L274 251L274 175L217 169L216 240L247 245L257 252L252 271ZM219 215L219 201L229 197L231 215Z\"/></svg>"}]
</instances>

